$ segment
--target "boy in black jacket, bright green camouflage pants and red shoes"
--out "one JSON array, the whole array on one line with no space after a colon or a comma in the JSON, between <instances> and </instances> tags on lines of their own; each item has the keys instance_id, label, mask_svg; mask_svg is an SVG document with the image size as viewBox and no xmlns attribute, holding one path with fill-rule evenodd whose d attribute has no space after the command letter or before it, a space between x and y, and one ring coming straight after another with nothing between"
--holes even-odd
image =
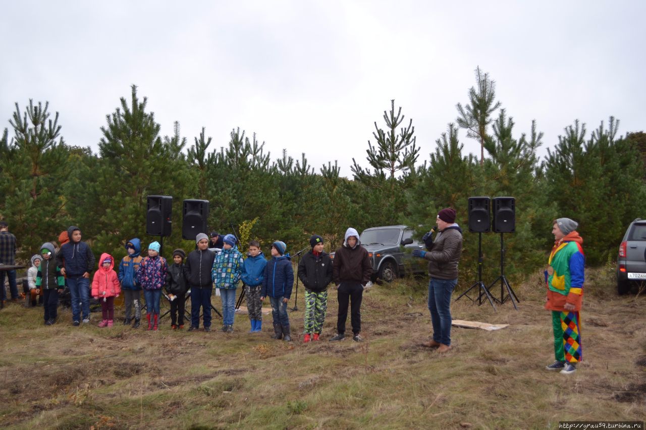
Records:
<instances>
[{"instance_id":1,"label":"boy in black jacket, bright green camouflage pants and red shoes","mask_svg":"<svg viewBox=\"0 0 646 430\"><path fill-rule=\"evenodd\" d=\"M309 238L311 251L298 263L298 279L305 286L305 329L303 342L320 340L328 310L328 284L332 282L332 259L323 251L323 238Z\"/></svg>"}]
</instances>

